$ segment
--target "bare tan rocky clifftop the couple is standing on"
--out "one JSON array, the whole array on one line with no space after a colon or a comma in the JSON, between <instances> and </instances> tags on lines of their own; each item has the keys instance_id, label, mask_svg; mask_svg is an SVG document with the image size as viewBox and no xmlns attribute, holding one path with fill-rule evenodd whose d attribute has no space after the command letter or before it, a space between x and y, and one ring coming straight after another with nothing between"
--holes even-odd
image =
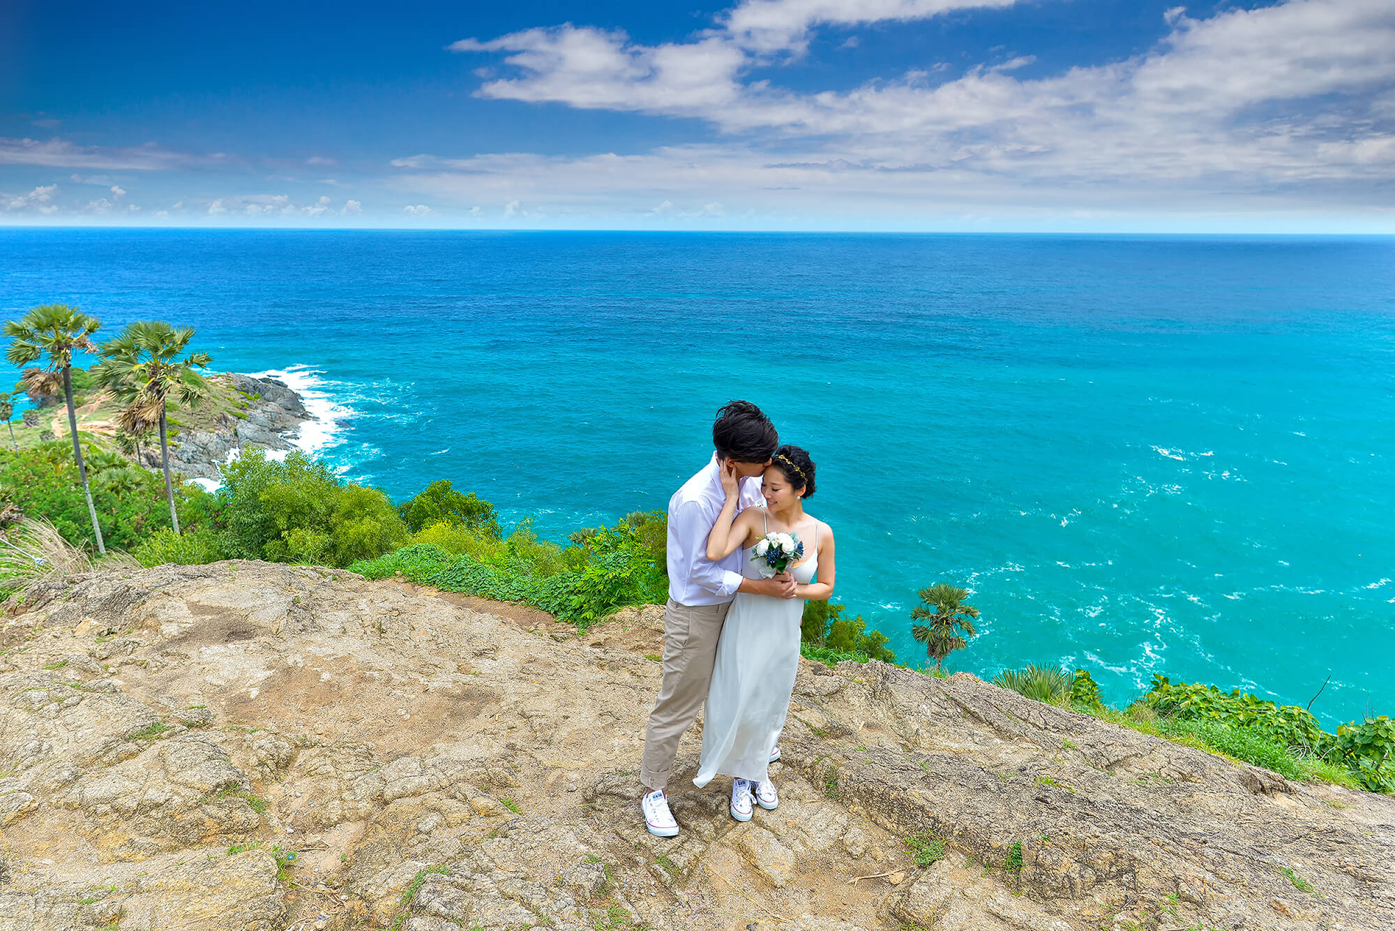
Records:
<instances>
[{"instance_id":1,"label":"bare tan rocky clifftop the couple is standing on","mask_svg":"<svg viewBox=\"0 0 1395 931\"><path fill-rule=\"evenodd\" d=\"M692 789L695 733L660 840L657 610L578 638L261 563L36 596L0 645L3 931L1395 928L1395 798L967 674L804 664L780 808Z\"/></svg>"}]
</instances>

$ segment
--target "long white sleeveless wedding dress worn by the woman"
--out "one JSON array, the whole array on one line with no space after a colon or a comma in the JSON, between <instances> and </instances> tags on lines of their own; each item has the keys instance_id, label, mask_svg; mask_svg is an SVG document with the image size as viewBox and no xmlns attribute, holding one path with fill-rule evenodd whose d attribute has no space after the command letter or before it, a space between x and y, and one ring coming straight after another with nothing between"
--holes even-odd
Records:
<instances>
[{"instance_id":1,"label":"long white sleeveless wedding dress worn by the woman","mask_svg":"<svg viewBox=\"0 0 1395 931\"><path fill-rule=\"evenodd\" d=\"M808 558L790 567L801 585L813 581L819 569L819 530ZM741 574L766 578L764 563L745 551ZM703 712L702 759L693 784L706 786L718 773L762 782L770 766L780 731L790 712L794 677L799 671L799 618L804 599L771 597L737 592L717 642L717 664L711 671L707 709Z\"/></svg>"}]
</instances>

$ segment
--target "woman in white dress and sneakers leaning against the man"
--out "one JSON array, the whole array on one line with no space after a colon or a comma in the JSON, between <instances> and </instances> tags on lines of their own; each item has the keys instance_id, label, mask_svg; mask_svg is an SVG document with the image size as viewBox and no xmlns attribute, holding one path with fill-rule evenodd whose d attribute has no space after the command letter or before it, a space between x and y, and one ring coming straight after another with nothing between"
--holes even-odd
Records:
<instances>
[{"instance_id":1,"label":"woman in white dress and sneakers leaning against the man","mask_svg":"<svg viewBox=\"0 0 1395 931\"><path fill-rule=\"evenodd\" d=\"M780 447L766 468L760 491L766 507L737 515L735 469L727 463L721 487L727 502L707 537L707 558L721 560L745 550L742 575L763 578L753 549L766 533L790 533L804 543L804 556L790 567L797 582L794 599L738 592L721 628L717 666L703 712L702 759L693 784L706 786L717 773L735 776L731 817L751 821L752 794L762 808L780 804L770 782L770 754L784 729L790 694L799 670L799 620L805 599L824 602L833 595L833 530L805 514L813 494L813 461L799 447ZM817 574L817 582L815 582Z\"/></svg>"}]
</instances>

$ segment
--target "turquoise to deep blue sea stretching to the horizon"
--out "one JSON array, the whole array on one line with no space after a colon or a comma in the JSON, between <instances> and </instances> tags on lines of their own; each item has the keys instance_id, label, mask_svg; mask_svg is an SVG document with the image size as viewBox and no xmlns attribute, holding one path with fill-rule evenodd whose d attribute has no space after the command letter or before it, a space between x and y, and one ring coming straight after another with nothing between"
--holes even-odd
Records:
<instances>
[{"instance_id":1,"label":"turquoise to deep blue sea stretching to the horizon","mask_svg":"<svg viewBox=\"0 0 1395 931\"><path fill-rule=\"evenodd\" d=\"M1395 713L1395 239L0 230L3 317L50 301L197 327L347 477L555 539L665 507L748 398L904 660L947 581L953 669Z\"/></svg>"}]
</instances>

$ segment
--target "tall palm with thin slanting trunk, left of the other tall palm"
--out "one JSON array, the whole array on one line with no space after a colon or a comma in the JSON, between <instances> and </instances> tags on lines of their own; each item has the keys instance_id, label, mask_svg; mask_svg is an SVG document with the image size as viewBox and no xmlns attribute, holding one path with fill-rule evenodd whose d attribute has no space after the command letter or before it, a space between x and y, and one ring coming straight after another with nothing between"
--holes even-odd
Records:
<instances>
[{"instance_id":1,"label":"tall palm with thin slanting trunk, left of the other tall palm","mask_svg":"<svg viewBox=\"0 0 1395 931\"><path fill-rule=\"evenodd\" d=\"M86 465L82 462L82 444L78 441L78 415L73 406L73 350L92 350L92 334L102 328L102 321L89 317L77 307L67 304L40 304L32 307L21 320L8 320L4 335L11 339L6 359L13 366L28 366L42 356L49 357L47 368L27 368L24 381L31 394L57 394L63 384L63 396L68 403L68 433L73 434L73 458L78 462L78 477L82 480L82 494L88 500L88 516L92 518L92 533L96 536L98 553L106 556L106 542L96 522L96 508L92 505L92 489L86 480Z\"/></svg>"}]
</instances>

